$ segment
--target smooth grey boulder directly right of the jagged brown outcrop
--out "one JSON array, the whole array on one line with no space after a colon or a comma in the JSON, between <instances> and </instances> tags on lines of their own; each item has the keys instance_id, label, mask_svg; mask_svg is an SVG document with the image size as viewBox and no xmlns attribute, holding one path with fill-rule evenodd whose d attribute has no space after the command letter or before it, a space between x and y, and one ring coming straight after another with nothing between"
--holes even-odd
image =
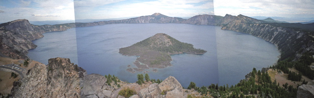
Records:
<instances>
[{"instance_id":1,"label":"smooth grey boulder directly right of the jagged brown outcrop","mask_svg":"<svg viewBox=\"0 0 314 98\"><path fill-rule=\"evenodd\" d=\"M105 94L103 94L102 88L105 86L106 81L107 78L99 74L90 74L85 76L81 90L81 97L89 98L91 95L95 95L96 97L101 96L104 98ZM105 91L105 93L107 92Z\"/></svg>"}]
</instances>

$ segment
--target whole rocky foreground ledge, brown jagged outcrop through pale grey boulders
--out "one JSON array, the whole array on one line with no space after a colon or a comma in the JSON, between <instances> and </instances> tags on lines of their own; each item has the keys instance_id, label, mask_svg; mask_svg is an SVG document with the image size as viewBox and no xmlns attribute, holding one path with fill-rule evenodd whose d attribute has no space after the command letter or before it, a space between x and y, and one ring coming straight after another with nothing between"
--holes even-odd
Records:
<instances>
[{"instance_id":1,"label":"whole rocky foreground ledge, brown jagged outcrop through pale grey boulders","mask_svg":"<svg viewBox=\"0 0 314 98\"><path fill-rule=\"evenodd\" d=\"M36 64L26 77L14 82L12 98L124 98L118 92L133 89L130 98L184 98L180 82L170 76L160 84L153 83L141 88L137 83L128 83L120 88L106 84L107 79L99 74L87 75L86 71L70 62L70 59L53 58L49 64Z\"/></svg>"}]
</instances>

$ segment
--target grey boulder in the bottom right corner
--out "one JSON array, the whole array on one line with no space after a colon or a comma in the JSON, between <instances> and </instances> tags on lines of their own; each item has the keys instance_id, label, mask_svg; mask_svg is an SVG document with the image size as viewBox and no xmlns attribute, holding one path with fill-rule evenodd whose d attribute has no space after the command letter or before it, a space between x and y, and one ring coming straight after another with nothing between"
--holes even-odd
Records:
<instances>
[{"instance_id":1,"label":"grey boulder in the bottom right corner","mask_svg":"<svg viewBox=\"0 0 314 98\"><path fill-rule=\"evenodd\" d=\"M299 86L296 98L314 98L314 85Z\"/></svg>"}]
</instances>

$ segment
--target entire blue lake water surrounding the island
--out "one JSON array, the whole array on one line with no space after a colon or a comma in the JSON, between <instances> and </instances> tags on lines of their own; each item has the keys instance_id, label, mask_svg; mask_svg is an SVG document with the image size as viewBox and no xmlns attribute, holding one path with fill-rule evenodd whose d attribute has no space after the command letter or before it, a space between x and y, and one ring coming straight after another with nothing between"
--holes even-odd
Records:
<instances>
[{"instance_id":1,"label":"entire blue lake water surrounding the island","mask_svg":"<svg viewBox=\"0 0 314 98\"><path fill-rule=\"evenodd\" d=\"M31 59L48 63L55 57L70 58L87 70L88 74L115 75L121 80L135 82L143 72L126 71L137 57L122 56L119 48L128 47L143 39L165 33L179 41L191 43L195 48L207 50L203 55L172 55L173 66L149 70L150 78L165 79L174 76L183 87L191 81L197 86L234 85L252 71L275 63L279 52L275 45L263 39L218 26L190 24L110 24L72 28L49 32L34 40L37 48L29 50ZM76 37L75 37L76 36Z\"/></svg>"}]
</instances>

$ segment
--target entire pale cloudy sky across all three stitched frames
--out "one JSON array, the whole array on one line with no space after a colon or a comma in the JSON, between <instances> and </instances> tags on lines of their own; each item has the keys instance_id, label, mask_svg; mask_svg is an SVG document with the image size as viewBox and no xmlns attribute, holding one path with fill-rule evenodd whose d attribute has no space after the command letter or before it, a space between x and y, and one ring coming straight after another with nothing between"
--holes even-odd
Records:
<instances>
[{"instance_id":1,"label":"entire pale cloudy sky across all three stitched frames","mask_svg":"<svg viewBox=\"0 0 314 98\"><path fill-rule=\"evenodd\" d=\"M154 13L314 18L313 5L314 0L0 0L0 22L113 19Z\"/></svg>"}]
</instances>

